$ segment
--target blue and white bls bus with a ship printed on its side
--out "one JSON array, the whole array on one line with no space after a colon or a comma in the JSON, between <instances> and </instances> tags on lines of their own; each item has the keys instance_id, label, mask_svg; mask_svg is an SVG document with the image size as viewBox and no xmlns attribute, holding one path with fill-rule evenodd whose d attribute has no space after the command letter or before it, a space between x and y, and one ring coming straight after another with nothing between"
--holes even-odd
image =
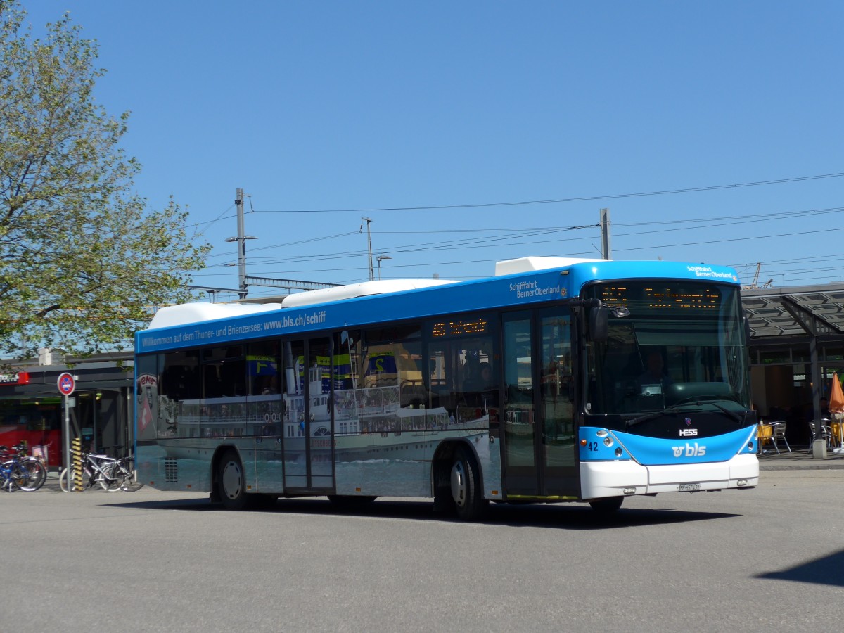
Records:
<instances>
[{"instance_id":1,"label":"blue and white bls bus with a ship printed on its side","mask_svg":"<svg viewBox=\"0 0 844 633\"><path fill-rule=\"evenodd\" d=\"M327 495L587 501L758 484L731 268L524 257L162 308L136 336L138 479L238 509Z\"/></svg>"}]
</instances>

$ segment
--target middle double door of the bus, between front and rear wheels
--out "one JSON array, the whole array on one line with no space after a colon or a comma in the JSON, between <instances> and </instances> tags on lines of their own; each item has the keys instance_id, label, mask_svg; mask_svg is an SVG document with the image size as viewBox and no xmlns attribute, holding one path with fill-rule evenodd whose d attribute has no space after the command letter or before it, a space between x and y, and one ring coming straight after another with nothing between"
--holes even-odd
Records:
<instances>
[{"instance_id":1,"label":"middle double door of the bus, between front and rear wheels","mask_svg":"<svg viewBox=\"0 0 844 633\"><path fill-rule=\"evenodd\" d=\"M285 492L333 492L331 354L328 338L284 344Z\"/></svg>"}]
</instances>

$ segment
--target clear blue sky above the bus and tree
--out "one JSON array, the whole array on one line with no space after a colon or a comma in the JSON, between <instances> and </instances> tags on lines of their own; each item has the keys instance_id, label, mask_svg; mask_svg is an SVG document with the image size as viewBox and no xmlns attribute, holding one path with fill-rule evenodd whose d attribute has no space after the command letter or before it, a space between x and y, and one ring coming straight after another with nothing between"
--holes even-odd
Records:
<instances>
[{"instance_id":1,"label":"clear blue sky above the bus and tree","mask_svg":"<svg viewBox=\"0 0 844 633\"><path fill-rule=\"evenodd\" d=\"M24 6L99 42L138 192L214 246L196 284L237 285L237 187L256 276L368 279L361 216L385 279L598 257L609 208L615 259L844 280L844 176L614 197L844 173L844 3ZM408 207L428 208L360 210Z\"/></svg>"}]
</instances>

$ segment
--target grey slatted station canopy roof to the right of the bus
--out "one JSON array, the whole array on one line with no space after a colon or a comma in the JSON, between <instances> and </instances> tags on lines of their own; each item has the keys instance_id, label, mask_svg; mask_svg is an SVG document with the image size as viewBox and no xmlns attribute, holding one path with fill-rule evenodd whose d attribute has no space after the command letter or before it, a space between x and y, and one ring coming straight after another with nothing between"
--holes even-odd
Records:
<instances>
[{"instance_id":1,"label":"grey slatted station canopy roof to the right of the bus","mask_svg":"<svg viewBox=\"0 0 844 633\"><path fill-rule=\"evenodd\" d=\"M742 290L751 338L844 335L844 284Z\"/></svg>"}]
</instances>

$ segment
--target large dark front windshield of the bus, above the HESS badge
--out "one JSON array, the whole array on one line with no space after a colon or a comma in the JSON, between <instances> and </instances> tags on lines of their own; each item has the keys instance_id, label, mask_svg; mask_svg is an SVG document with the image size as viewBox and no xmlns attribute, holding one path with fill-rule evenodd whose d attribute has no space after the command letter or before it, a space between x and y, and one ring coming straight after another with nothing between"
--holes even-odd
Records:
<instances>
[{"instance_id":1,"label":"large dark front windshield of the bus, above the HESS badge","mask_svg":"<svg viewBox=\"0 0 844 633\"><path fill-rule=\"evenodd\" d=\"M608 339L587 344L587 413L749 408L738 289L630 281L593 285L587 296L610 309Z\"/></svg>"}]
</instances>

